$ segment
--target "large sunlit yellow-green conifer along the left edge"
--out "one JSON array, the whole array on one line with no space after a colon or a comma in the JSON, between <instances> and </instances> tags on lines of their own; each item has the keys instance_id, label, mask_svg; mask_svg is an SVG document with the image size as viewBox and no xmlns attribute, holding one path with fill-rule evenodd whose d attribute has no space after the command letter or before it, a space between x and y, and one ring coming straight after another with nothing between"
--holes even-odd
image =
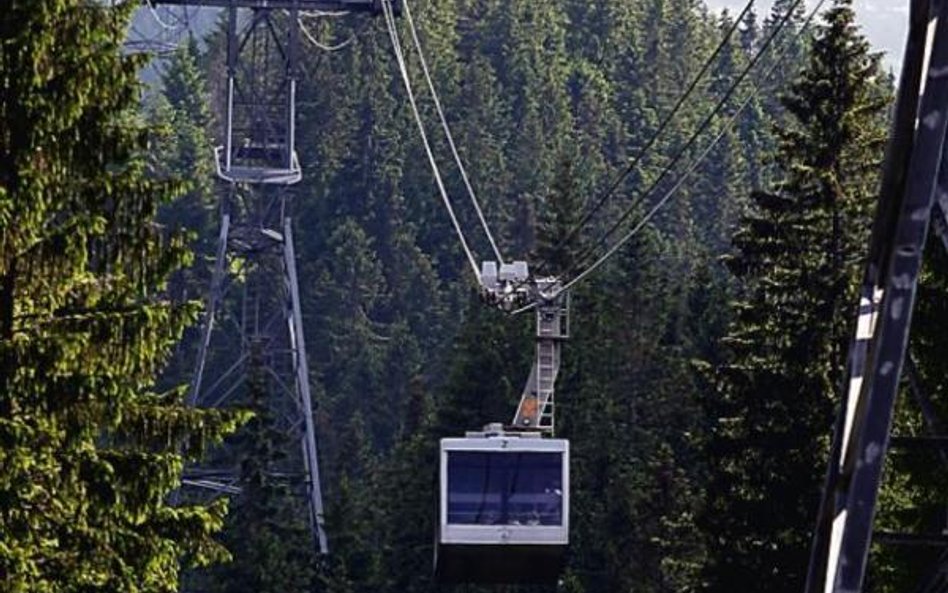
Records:
<instances>
[{"instance_id":1,"label":"large sunlit yellow-green conifer along the left edge","mask_svg":"<svg viewBox=\"0 0 948 593\"><path fill-rule=\"evenodd\" d=\"M146 175L133 5L0 13L0 582L5 591L170 592L225 554L225 505L169 505L185 459L238 418L151 386L193 303L155 224L185 189Z\"/></svg>"}]
</instances>

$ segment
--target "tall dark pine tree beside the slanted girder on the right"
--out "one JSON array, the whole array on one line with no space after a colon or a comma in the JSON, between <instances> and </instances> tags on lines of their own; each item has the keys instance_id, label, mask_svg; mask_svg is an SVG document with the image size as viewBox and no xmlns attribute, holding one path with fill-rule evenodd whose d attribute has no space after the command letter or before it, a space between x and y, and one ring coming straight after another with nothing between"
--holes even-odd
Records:
<instances>
[{"instance_id":1,"label":"tall dark pine tree beside the slanted girder on the right","mask_svg":"<svg viewBox=\"0 0 948 593\"><path fill-rule=\"evenodd\" d=\"M782 180L754 192L728 267L740 300L707 402L711 590L803 585L882 144L885 104L849 0L784 98Z\"/></svg>"}]
</instances>

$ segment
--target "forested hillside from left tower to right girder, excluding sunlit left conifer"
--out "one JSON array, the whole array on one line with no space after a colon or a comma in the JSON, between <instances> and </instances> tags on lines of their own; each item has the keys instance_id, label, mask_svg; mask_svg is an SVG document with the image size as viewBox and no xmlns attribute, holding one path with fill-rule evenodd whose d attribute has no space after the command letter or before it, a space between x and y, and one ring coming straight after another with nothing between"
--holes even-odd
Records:
<instances>
[{"instance_id":1,"label":"forested hillside from left tower to right girder, excluding sunlit left conifer","mask_svg":"<svg viewBox=\"0 0 948 593\"><path fill-rule=\"evenodd\" d=\"M662 168L793 4L744 15L639 159L733 15L692 0L414 3L502 251L553 273L601 252L603 229L638 201L634 223L671 187L675 175L659 179ZM714 120L686 154L723 131L706 163L574 291L557 410L573 467L564 591L802 587L849 332L830 322L850 317L890 93L846 3L831 15L801 37L797 8L730 98L726 115L758 89L737 125ZM235 592L248 583L307 591L314 582L327 591L430 590L437 439L509 421L529 371L532 320L477 296L382 23L361 15L308 23L327 44L353 39L335 52L307 47L304 180L293 198L333 553L314 571L313 557L294 549L305 538L294 537L273 539L261 556L247 544L259 543L259 522L238 515L227 538L238 558L212 580ZM176 117L208 137L215 127L187 107L188 93L220 104L221 42L212 35L205 53L182 53L166 75ZM409 65L418 79L419 64L409 57ZM182 85L195 66L209 91L197 80ZM840 80L830 74L839 71ZM435 129L430 97L421 108ZM434 137L446 166L448 147ZM180 162L182 146L168 161L178 151ZM642 200L656 180L659 191ZM459 175L446 184L464 195ZM173 218L212 238L211 188L187 203ZM465 228L476 228L469 205L456 205ZM490 253L483 237L474 247Z\"/></svg>"}]
</instances>

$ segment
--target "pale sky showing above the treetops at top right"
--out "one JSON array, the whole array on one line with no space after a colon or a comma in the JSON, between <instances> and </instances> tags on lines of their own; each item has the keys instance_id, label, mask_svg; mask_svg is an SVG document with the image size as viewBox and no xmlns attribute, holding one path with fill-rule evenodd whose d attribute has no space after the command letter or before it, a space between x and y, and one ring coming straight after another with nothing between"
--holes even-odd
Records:
<instances>
[{"instance_id":1,"label":"pale sky showing above the treetops at top right","mask_svg":"<svg viewBox=\"0 0 948 593\"><path fill-rule=\"evenodd\" d=\"M705 0L712 9L727 8L731 14L744 9L746 0ZM772 0L757 0L755 10L761 19L770 13ZM807 0L814 6L814 0ZM826 2L828 6L830 3ZM885 63L898 72L908 32L909 0L854 0L856 19L874 49L885 52Z\"/></svg>"}]
</instances>

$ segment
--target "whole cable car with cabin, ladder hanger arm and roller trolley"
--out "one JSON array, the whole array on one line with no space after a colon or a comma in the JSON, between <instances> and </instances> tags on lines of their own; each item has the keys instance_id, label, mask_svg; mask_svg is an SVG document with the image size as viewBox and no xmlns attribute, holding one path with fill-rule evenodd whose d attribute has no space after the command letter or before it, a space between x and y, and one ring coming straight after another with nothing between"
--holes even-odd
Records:
<instances>
[{"instance_id":1,"label":"whole cable car with cabin, ladder hanger arm and roller trolley","mask_svg":"<svg viewBox=\"0 0 948 593\"><path fill-rule=\"evenodd\" d=\"M496 270L485 263L485 296L503 308L532 301L536 355L512 425L441 440L435 575L448 583L555 583L569 544L569 441L552 438L568 300L555 279L529 279L523 262Z\"/></svg>"}]
</instances>

